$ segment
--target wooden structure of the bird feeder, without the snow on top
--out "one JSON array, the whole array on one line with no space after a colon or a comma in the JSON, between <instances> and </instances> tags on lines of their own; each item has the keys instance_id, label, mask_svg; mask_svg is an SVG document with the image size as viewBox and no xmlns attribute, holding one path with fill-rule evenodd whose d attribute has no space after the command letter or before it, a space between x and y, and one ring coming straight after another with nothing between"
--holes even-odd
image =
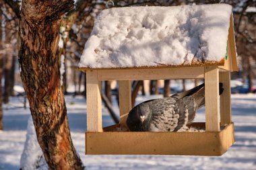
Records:
<instances>
[{"instance_id":1,"label":"wooden structure of the bird feeder, without the snow on top","mask_svg":"<svg viewBox=\"0 0 256 170\"><path fill-rule=\"evenodd\" d=\"M231 119L230 72L238 71L232 14L226 57L219 62L158 65L136 68L80 68L86 72L86 155L205 155L220 156L234 143ZM205 79L205 122L193 123L205 132L128 132L131 81ZM101 81L119 82L120 124L102 128ZM224 92L219 93L219 82ZM119 131L117 131L119 129Z\"/></svg>"}]
</instances>

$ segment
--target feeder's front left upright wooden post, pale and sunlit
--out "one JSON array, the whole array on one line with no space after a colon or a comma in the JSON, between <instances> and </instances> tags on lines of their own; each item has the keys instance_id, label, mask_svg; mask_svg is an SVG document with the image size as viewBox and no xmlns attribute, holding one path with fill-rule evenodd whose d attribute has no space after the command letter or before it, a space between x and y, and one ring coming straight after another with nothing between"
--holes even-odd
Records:
<instances>
[{"instance_id":1,"label":"feeder's front left upright wooden post, pale and sunlit","mask_svg":"<svg viewBox=\"0 0 256 170\"><path fill-rule=\"evenodd\" d=\"M101 82L97 79L98 71L86 72L87 131L102 132Z\"/></svg>"}]
</instances>

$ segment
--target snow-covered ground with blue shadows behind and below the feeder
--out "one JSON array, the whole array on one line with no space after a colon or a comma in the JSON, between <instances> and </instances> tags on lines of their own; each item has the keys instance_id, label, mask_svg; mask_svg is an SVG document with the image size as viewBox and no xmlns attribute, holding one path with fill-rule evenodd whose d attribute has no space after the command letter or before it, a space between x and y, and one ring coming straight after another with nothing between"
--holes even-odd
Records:
<instances>
[{"instance_id":1,"label":"snow-covered ground with blue shadows behind and below the feeder","mask_svg":"<svg viewBox=\"0 0 256 170\"><path fill-rule=\"evenodd\" d=\"M152 96L150 96L152 97ZM147 99L150 99L147 97ZM159 96L153 96L159 97ZM137 97L141 102L145 97ZM75 148L88 170L115 169L256 169L256 95L232 95L232 120L236 142L221 157L160 155L84 155L86 102L83 97L66 97L71 136ZM15 106L15 107L13 107ZM18 108L17 106L20 106ZM0 170L19 169L26 140L30 110L22 108L22 99L12 98L4 105L5 130L0 131ZM115 108L118 110L118 108ZM195 122L204 122L199 110ZM103 125L113 124L103 108Z\"/></svg>"}]
</instances>

